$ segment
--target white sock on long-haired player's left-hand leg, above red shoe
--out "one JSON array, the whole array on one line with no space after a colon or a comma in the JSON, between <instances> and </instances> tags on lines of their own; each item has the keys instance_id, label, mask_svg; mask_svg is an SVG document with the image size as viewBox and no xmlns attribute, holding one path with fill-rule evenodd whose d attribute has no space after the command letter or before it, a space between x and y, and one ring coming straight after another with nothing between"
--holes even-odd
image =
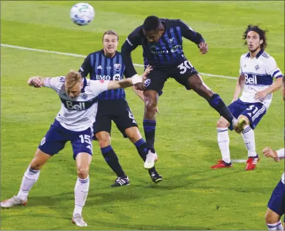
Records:
<instances>
[{"instance_id":1,"label":"white sock on long-haired player's left-hand leg, above red shoe","mask_svg":"<svg viewBox=\"0 0 285 231\"><path fill-rule=\"evenodd\" d=\"M231 157L229 156L229 132L227 127L217 127L218 132L218 147L220 147L220 152L222 158L225 162L231 162Z\"/></svg>"}]
</instances>

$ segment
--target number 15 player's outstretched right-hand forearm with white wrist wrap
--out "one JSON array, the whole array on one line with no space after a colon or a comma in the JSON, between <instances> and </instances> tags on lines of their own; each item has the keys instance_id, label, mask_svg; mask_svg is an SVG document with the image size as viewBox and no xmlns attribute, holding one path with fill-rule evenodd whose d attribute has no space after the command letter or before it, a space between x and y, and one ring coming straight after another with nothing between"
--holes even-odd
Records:
<instances>
[{"instance_id":1,"label":"number 15 player's outstretched right-hand forearm with white wrist wrap","mask_svg":"<svg viewBox=\"0 0 285 231\"><path fill-rule=\"evenodd\" d=\"M152 71L152 67L148 66L142 75L133 75L133 77L127 78L125 80L119 81L109 81L108 90L117 89L117 88L128 88L137 83L143 83L144 77Z\"/></svg>"}]
</instances>

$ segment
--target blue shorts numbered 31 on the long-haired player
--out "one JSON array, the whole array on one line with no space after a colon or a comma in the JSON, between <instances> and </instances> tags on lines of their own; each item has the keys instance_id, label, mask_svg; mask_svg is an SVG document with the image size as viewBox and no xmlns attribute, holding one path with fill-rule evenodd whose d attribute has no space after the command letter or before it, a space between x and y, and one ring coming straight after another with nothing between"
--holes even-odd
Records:
<instances>
[{"instance_id":1,"label":"blue shorts numbered 31 on the long-haired player","mask_svg":"<svg viewBox=\"0 0 285 231\"><path fill-rule=\"evenodd\" d=\"M228 108L236 119L240 114L247 117L252 129L255 129L261 118L266 114L266 107L262 103L247 103L240 99L229 104ZM232 125L229 126L229 130L233 130Z\"/></svg>"}]
</instances>

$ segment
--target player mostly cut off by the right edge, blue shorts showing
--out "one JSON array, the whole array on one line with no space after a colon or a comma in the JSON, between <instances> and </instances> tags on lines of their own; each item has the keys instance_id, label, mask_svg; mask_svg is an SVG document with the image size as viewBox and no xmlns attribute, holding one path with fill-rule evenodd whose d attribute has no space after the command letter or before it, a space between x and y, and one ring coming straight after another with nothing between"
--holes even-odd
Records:
<instances>
[{"instance_id":1,"label":"player mostly cut off by the right edge, blue shorts showing","mask_svg":"<svg viewBox=\"0 0 285 231\"><path fill-rule=\"evenodd\" d=\"M285 78L283 76L282 84L282 96L285 101ZM270 147L264 147L262 150L264 156L271 157L276 162L280 159L284 159L284 148L277 151L271 149ZM282 175L280 182L272 192L271 198L267 205L267 211L265 215L266 224L269 230L283 230L285 228L285 217L284 217L284 227L280 218L285 214L285 172Z\"/></svg>"}]
</instances>

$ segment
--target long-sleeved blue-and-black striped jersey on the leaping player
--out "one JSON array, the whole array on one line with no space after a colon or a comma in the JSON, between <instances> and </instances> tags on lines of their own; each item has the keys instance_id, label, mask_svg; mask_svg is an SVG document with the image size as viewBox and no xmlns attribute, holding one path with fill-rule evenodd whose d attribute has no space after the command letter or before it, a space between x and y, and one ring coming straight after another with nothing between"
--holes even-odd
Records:
<instances>
[{"instance_id":1,"label":"long-sleeved blue-and-black striped jersey on the leaping player","mask_svg":"<svg viewBox=\"0 0 285 231\"><path fill-rule=\"evenodd\" d=\"M179 19L161 19L165 32L158 42L148 42L144 35L143 26L137 27L126 38L122 46L122 57L130 76L137 72L133 66L130 52L141 45L144 53L144 62L156 68L168 69L185 60L182 37L195 42L197 45L204 42L203 37ZM127 77L130 77L127 76Z\"/></svg>"}]
</instances>

